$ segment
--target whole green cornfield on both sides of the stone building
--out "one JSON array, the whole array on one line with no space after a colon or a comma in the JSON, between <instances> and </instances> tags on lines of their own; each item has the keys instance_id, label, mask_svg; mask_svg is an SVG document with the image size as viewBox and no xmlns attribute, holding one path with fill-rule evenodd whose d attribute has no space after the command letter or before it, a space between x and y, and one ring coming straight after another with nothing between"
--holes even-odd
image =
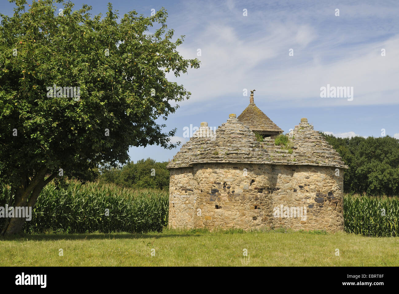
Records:
<instances>
[{"instance_id":1,"label":"whole green cornfield on both sides of the stone building","mask_svg":"<svg viewBox=\"0 0 399 294\"><path fill-rule=\"evenodd\" d=\"M67 186L50 183L41 192L26 222L26 233L162 231L168 224L169 193L155 189L120 188L69 180ZM11 205L10 188L2 186L0 206ZM109 210L109 216L106 216ZM4 223L0 218L0 227ZM364 236L399 236L399 198L344 196L344 225L348 233Z\"/></svg>"}]
</instances>

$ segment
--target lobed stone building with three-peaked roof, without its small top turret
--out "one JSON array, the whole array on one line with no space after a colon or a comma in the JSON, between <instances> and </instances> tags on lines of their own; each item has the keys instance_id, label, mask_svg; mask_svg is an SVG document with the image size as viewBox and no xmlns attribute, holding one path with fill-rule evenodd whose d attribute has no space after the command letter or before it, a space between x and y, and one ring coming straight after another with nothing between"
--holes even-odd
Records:
<instances>
[{"instance_id":1,"label":"lobed stone building with three-peaked roof, without its small top turret","mask_svg":"<svg viewBox=\"0 0 399 294\"><path fill-rule=\"evenodd\" d=\"M167 166L169 226L343 230L348 167L306 118L288 137L290 148L258 142L235 114L215 133L201 123Z\"/></svg>"}]
</instances>

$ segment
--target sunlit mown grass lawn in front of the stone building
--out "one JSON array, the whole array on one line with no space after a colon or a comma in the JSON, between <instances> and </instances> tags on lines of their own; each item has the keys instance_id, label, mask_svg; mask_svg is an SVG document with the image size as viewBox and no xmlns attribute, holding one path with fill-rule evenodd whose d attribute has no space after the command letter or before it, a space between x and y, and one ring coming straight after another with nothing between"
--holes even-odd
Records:
<instances>
[{"instance_id":1,"label":"sunlit mown grass lawn in front of the stone building","mask_svg":"<svg viewBox=\"0 0 399 294\"><path fill-rule=\"evenodd\" d=\"M0 239L0 266L399 266L397 248L344 232L36 234Z\"/></svg>"}]
</instances>

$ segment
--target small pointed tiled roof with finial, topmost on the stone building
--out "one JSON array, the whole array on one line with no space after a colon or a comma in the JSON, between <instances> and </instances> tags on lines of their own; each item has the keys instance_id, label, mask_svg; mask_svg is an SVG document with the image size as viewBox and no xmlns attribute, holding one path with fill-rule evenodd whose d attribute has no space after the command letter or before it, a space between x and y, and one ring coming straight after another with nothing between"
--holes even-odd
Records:
<instances>
[{"instance_id":1,"label":"small pointed tiled roof with finial, topmost on the stone building","mask_svg":"<svg viewBox=\"0 0 399 294\"><path fill-rule=\"evenodd\" d=\"M253 131L284 132L255 105L253 102L253 97L251 98L251 103L249 103L247 108L245 108L244 111L238 116L238 120L249 126L249 128Z\"/></svg>"}]
</instances>

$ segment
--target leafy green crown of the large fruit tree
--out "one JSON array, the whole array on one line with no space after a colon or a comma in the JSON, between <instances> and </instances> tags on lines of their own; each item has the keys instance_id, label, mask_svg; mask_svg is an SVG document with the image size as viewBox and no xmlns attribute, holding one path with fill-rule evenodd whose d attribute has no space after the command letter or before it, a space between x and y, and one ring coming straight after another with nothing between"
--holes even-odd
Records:
<instances>
[{"instance_id":1,"label":"leafy green crown of the large fruit tree","mask_svg":"<svg viewBox=\"0 0 399 294\"><path fill-rule=\"evenodd\" d=\"M91 17L91 6L73 10L65 0L10 2L14 15L0 14L0 179L15 206L34 205L61 174L128 162L129 146L176 147L176 129L164 132L157 120L190 92L166 73L187 73L199 60L176 51L184 36L172 41L164 8L119 18L109 4L106 16Z\"/></svg>"}]
</instances>

